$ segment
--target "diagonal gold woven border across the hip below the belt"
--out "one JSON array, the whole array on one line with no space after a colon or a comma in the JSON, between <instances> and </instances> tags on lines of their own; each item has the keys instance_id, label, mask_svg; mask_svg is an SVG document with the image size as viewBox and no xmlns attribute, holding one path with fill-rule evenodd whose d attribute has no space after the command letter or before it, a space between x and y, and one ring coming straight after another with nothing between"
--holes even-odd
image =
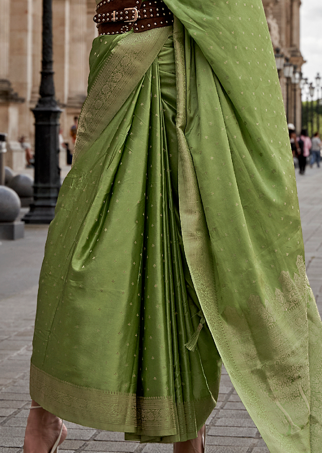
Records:
<instances>
[{"instance_id":1,"label":"diagonal gold woven border across the hip below the belt","mask_svg":"<svg viewBox=\"0 0 322 453\"><path fill-rule=\"evenodd\" d=\"M116 115L155 60L171 31L172 26L129 33L113 48L83 104L73 164Z\"/></svg>"}]
</instances>

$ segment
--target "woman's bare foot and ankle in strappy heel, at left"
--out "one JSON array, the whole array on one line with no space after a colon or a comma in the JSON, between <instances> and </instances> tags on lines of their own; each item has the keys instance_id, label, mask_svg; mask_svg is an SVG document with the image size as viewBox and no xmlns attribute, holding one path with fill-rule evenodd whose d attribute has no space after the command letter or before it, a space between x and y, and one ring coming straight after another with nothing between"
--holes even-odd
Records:
<instances>
[{"instance_id":1,"label":"woman's bare foot and ankle in strappy heel, at left","mask_svg":"<svg viewBox=\"0 0 322 453\"><path fill-rule=\"evenodd\" d=\"M31 406L38 406L32 400ZM29 412L26 432L24 435L24 453L49 453L59 437L63 421L42 407ZM59 445L67 436L67 428L63 425Z\"/></svg>"}]
</instances>

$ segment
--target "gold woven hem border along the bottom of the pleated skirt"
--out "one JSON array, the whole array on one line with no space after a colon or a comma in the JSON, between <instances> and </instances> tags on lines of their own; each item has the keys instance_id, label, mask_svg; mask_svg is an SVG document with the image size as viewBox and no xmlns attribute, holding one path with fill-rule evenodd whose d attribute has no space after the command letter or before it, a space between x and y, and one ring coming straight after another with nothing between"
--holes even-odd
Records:
<instances>
[{"instance_id":1,"label":"gold woven hem border along the bottom of the pleated skirt","mask_svg":"<svg viewBox=\"0 0 322 453\"><path fill-rule=\"evenodd\" d=\"M163 437L171 442L181 430L182 437L195 433L195 412L206 416L215 407L209 398L177 404L171 397L141 397L135 394L108 392L75 386L50 376L33 364L30 366L30 395L44 409L65 420L108 431L140 436ZM200 427L197 427L199 429Z\"/></svg>"}]
</instances>

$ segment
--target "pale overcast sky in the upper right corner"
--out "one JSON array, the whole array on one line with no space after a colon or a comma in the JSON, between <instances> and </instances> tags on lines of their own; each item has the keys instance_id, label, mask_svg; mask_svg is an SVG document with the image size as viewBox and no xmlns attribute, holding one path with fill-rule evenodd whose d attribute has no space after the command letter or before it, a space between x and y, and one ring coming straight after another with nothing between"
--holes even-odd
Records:
<instances>
[{"instance_id":1,"label":"pale overcast sky in the upper right corner","mask_svg":"<svg viewBox=\"0 0 322 453\"><path fill-rule=\"evenodd\" d=\"M315 82L317 72L322 76L322 0L302 0L301 52L307 63L302 72L309 82Z\"/></svg>"}]
</instances>

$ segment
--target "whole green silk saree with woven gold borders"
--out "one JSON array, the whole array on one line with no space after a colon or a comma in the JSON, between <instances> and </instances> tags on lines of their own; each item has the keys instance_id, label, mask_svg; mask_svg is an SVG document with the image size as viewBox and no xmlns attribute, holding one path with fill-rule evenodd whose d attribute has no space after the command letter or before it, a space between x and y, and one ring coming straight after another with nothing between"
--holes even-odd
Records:
<instances>
[{"instance_id":1,"label":"whole green silk saree with woven gold borders","mask_svg":"<svg viewBox=\"0 0 322 453\"><path fill-rule=\"evenodd\" d=\"M222 359L271 453L317 453L322 324L263 7L165 3L173 30L93 42L31 396L127 439L181 441L215 407Z\"/></svg>"}]
</instances>

